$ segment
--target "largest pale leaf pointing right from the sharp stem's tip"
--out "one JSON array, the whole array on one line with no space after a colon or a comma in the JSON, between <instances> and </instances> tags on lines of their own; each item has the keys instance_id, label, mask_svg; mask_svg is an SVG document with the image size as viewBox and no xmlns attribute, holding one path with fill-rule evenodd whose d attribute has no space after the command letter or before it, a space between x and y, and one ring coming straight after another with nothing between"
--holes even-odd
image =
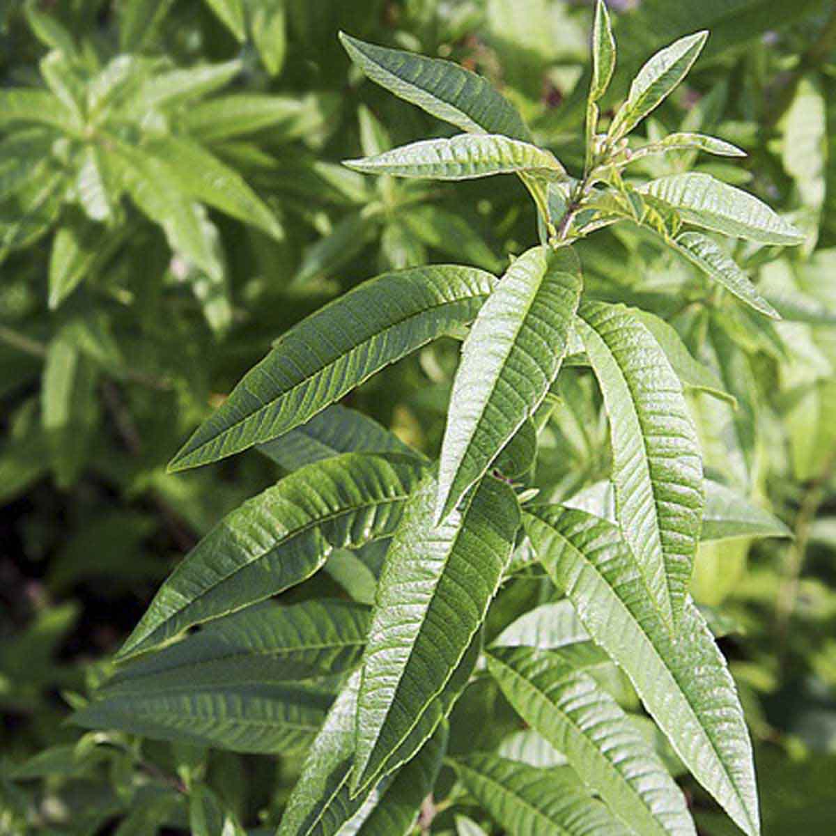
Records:
<instances>
[{"instance_id":1,"label":"largest pale leaf pointing right from the sharp stem's tip","mask_svg":"<svg viewBox=\"0 0 836 836\"><path fill-rule=\"evenodd\" d=\"M710 174L672 174L645 183L639 191L673 206L696 227L762 244L794 245L804 240L766 203Z\"/></svg>"}]
</instances>

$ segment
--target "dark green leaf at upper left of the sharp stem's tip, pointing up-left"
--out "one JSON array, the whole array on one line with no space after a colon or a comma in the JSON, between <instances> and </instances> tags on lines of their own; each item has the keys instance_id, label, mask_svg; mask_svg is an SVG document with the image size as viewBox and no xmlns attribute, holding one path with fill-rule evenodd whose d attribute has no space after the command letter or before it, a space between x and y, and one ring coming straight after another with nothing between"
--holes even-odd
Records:
<instances>
[{"instance_id":1,"label":"dark green leaf at upper left of the sharp stem's tip, pointing up-left","mask_svg":"<svg viewBox=\"0 0 836 836\"><path fill-rule=\"evenodd\" d=\"M372 81L438 119L468 133L531 141L523 117L477 74L451 61L379 47L342 32L339 39L350 59Z\"/></svg>"}]
</instances>

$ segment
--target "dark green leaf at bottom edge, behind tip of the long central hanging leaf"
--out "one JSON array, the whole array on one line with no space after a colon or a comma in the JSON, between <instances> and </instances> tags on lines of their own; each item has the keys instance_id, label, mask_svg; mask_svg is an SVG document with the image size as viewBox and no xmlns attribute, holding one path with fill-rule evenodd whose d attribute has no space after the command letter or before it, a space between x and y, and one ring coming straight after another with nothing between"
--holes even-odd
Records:
<instances>
[{"instance_id":1,"label":"dark green leaf at bottom edge, behind tip of the long central hanging leaf","mask_svg":"<svg viewBox=\"0 0 836 836\"><path fill-rule=\"evenodd\" d=\"M432 792L447 749L447 725L442 723L415 757L395 776L358 836L409 836Z\"/></svg>"}]
</instances>

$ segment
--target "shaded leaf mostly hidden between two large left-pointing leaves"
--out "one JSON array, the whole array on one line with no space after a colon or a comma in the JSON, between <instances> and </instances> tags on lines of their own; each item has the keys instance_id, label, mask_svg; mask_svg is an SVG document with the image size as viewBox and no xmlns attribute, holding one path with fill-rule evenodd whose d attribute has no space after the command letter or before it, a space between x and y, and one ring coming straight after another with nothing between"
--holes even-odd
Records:
<instances>
[{"instance_id":1,"label":"shaded leaf mostly hidden between two large left-pointing leaves","mask_svg":"<svg viewBox=\"0 0 836 836\"><path fill-rule=\"evenodd\" d=\"M288 471L340 453L400 453L424 458L368 415L339 404L257 449Z\"/></svg>"}]
</instances>

